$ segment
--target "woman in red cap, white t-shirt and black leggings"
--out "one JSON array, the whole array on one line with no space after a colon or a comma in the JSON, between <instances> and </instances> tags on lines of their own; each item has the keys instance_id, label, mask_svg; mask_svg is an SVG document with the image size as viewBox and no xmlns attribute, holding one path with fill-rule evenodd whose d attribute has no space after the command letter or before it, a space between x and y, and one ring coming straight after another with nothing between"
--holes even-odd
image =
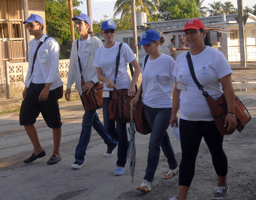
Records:
<instances>
[{"instance_id":1,"label":"woman in red cap, white t-shirt and black leggings","mask_svg":"<svg viewBox=\"0 0 256 200\"><path fill-rule=\"evenodd\" d=\"M212 163L218 175L218 186L215 187L213 199L224 199L227 196L228 186L226 182L227 157L222 148L223 136L219 134L207 101L191 76L186 55L188 57L190 55L196 78L204 90L215 100L224 93L228 109L224 125L227 127L227 131L236 129L232 70L224 54L210 47L209 38L201 20L188 20L183 31L190 46L190 52L180 54L176 60L173 71L175 88L170 120L172 127L174 124L178 125L177 111L180 108L179 129L182 158L178 195L170 200L186 200L189 186L195 174L195 160L202 137L204 137L212 155Z\"/></svg>"}]
</instances>

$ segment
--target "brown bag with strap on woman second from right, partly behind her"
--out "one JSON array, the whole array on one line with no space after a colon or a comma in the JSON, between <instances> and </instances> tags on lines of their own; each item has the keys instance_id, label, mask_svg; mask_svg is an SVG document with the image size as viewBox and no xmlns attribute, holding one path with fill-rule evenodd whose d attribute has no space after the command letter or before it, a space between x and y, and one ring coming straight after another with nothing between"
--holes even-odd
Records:
<instances>
[{"instance_id":1,"label":"brown bag with strap on woman second from right, partly behind her","mask_svg":"<svg viewBox=\"0 0 256 200\"><path fill-rule=\"evenodd\" d=\"M147 63L149 55L146 55L145 57L145 61L144 61L144 69ZM135 127L136 130L145 135L145 134L149 134L151 133L151 128L148 125L148 121L146 119L145 113L144 113L144 109L143 109L143 101L142 101L142 93L143 93L143 89L142 89L142 83L140 85L141 89L140 89L140 97L139 97L139 101L137 102L137 104L133 107L134 111L133 111L133 117L134 117L134 121L135 121Z\"/></svg>"}]
</instances>

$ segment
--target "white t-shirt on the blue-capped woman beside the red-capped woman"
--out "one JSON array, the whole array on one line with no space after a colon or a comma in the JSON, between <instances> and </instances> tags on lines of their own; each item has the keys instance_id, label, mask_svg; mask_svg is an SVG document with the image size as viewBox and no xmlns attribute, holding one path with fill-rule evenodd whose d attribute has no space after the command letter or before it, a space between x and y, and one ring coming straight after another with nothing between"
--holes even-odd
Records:
<instances>
[{"instance_id":1,"label":"white t-shirt on the blue-capped woman beside the red-capped woman","mask_svg":"<svg viewBox=\"0 0 256 200\"><path fill-rule=\"evenodd\" d=\"M145 60L145 57L144 57ZM172 89L175 77L172 74L175 61L172 57L161 54L154 60L148 57L142 73L143 103L151 108L171 108Z\"/></svg>"}]
</instances>

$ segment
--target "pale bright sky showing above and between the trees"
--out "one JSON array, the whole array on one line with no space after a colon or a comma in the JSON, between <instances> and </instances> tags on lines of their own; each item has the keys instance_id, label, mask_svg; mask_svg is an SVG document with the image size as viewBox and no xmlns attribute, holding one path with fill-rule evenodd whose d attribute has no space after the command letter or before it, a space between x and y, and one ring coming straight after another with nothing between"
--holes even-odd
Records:
<instances>
[{"instance_id":1,"label":"pale bright sky showing above and between the trees","mask_svg":"<svg viewBox=\"0 0 256 200\"><path fill-rule=\"evenodd\" d=\"M79 9L87 13L87 6L86 6L86 0L82 0L84 3L79 7ZM208 6L208 3L213 3L214 0L204 0L203 6ZM216 0L217 1L217 0ZM226 2L227 0L221 0L221 3ZM237 1L236 0L230 0L234 7L237 7ZM99 21L100 19L103 20L103 15L107 14L108 19L113 17L114 14L114 5L116 1L111 0L91 0L92 4L92 13L93 13L93 20ZM243 6L249 6L250 8L253 7L253 5L256 4L254 0L243 0ZM118 16L119 18L120 16Z\"/></svg>"}]
</instances>

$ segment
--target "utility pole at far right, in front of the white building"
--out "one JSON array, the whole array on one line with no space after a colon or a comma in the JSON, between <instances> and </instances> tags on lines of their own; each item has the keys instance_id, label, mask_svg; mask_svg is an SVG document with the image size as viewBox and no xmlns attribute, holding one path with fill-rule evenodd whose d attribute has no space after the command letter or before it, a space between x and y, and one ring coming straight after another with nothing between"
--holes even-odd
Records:
<instances>
[{"instance_id":1,"label":"utility pole at far right, in front of the white building","mask_svg":"<svg viewBox=\"0 0 256 200\"><path fill-rule=\"evenodd\" d=\"M239 26L240 63L241 63L241 67L246 67L243 0L237 0L237 9L238 9L238 26Z\"/></svg>"}]
</instances>

